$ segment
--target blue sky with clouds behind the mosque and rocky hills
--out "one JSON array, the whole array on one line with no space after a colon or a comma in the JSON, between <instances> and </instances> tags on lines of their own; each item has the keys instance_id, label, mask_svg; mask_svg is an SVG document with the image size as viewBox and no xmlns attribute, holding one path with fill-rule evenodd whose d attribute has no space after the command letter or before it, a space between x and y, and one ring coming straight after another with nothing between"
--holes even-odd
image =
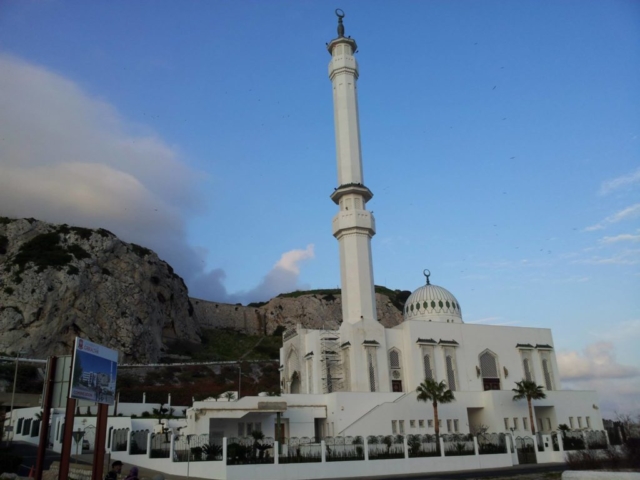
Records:
<instances>
[{"instance_id":1,"label":"blue sky with clouds behind the mosque and rocky hills","mask_svg":"<svg viewBox=\"0 0 640 480\"><path fill-rule=\"evenodd\" d=\"M2 2L0 214L108 228L201 298L338 286L335 7L375 282L429 268L639 410L637 2Z\"/></svg>"}]
</instances>

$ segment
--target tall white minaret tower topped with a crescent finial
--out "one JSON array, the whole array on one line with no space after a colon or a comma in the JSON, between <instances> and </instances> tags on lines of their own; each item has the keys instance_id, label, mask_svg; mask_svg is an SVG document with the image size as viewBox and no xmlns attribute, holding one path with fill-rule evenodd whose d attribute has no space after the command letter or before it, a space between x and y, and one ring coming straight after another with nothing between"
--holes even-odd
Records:
<instances>
[{"instance_id":1,"label":"tall white minaret tower topped with a crescent finial","mask_svg":"<svg viewBox=\"0 0 640 480\"><path fill-rule=\"evenodd\" d=\"M331 54L329 78L333 84L338 187L331 199L339 205L333 217L333 236L340 244L342 319L355 324L377 322L371 261L375 220L366 209L373 194L364 186L358 120L358 63L356 41L344 36L344 13L337 9L338 37L327 44Z\"/></svg>"}]
</instances>

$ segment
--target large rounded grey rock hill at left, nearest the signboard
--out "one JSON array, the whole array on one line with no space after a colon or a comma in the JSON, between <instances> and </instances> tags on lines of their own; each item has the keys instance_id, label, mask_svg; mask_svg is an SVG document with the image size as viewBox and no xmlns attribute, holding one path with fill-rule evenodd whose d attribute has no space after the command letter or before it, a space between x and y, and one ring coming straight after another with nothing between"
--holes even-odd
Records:
<instances>
[{"instance_id":1,"label":"large rounded grey rock hill at left, nearest the signboard","mask_svg":"<svg viewBox=\"0 0 640 480\"><path fill-rule=\"evenodd\" d=\"M187 287L149 249L107 230L0 217L0 351L69 354L76 336L155 362L200 341Z\"/></svg>"}]
</instances>

